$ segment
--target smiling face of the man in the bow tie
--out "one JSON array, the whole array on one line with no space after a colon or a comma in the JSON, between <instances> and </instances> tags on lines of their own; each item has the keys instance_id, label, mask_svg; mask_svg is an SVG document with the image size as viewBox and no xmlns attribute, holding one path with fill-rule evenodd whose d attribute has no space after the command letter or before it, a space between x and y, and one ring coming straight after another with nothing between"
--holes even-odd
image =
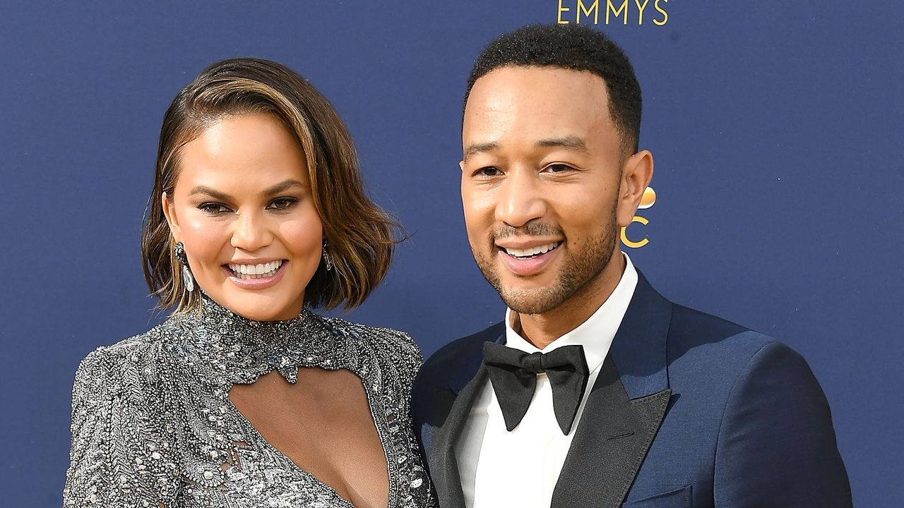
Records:
<instances>
[{"instance_id":1,"label":"smiling face of the man in the bow tie","mask_svg":"<svg viewBox=\"0 0 904 508\"><path fill-rule=\"evenodd\" d=\"M554 67L491 71L467 99L467 236L518 313L543 314L592 289L618 252L619 224L636 203L619 199L623 157L607 104L602 78Z\"/></svg>"}]
</instances>

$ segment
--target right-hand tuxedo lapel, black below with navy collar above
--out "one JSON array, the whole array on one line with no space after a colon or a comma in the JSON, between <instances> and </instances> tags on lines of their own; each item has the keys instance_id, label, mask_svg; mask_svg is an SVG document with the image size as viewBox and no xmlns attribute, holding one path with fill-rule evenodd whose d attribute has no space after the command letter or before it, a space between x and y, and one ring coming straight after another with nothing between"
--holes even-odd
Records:
<instances>
[{"instance_id":1,"label":"right-hand tuxedo lapel, black below with navy collar above","mask_svg":"<svg viewBox=\"0 0 904 508\"><path fill-rule=\"evenodd\" d=\"M552 494L553 507L620 506L668 407L665 339L672 304L637 275Z\"/></svg>"}]
</instances>

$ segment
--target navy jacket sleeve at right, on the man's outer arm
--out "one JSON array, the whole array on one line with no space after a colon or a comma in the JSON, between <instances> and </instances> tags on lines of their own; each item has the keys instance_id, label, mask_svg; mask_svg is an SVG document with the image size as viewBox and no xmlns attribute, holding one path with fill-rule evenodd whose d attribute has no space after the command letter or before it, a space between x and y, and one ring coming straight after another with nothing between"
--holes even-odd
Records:
<instances>
[{"instance_id":1,"label":"navy jacket sleeve at right, on the man's outer arm","mask_svg":"<svg viewBox=\"0 0 904 508\"><path fill-rule=\"evenodd\" d=\"M713 487L720 507L852 506L823 390L782 343L767 343L734 382Z\"/></svg>"}]
</instances>

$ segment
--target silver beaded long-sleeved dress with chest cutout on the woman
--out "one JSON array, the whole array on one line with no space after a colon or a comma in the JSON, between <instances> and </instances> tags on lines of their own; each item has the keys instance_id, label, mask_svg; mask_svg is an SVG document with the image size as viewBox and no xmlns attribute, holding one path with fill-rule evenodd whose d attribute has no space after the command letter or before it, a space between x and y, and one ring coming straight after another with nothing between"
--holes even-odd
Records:
<instances>
[{"instance_id":1,"label":"silver beaded long-sleeved dress with chest cutout on the woman","mask_svg":"<svg viewBox=\"0 0 904 508\"><path fill-rule=\"evenodd\" d=\"M421 362L407 334L305 310L255 322L204 298L146 334L90 353L72 393L71 466L63 505L217 508L349 507L250 425L233 384L297 367L348 369L363 381L389 468L394 507L432 507L410 429Z\"/></svg>"}]
</instances>

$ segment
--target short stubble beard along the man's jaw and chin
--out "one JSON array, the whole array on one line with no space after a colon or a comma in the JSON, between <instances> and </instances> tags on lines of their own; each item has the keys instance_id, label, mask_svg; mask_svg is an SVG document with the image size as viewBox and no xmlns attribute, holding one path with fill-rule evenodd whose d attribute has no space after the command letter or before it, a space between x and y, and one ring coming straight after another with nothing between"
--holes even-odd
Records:
<instances>
[{"instance_id":1,"label":"short stubble beard along the man's jaw and chin","mask_svg":"<svg viewBox=\"0 0 904 508\"><path fill-rule=\"evenodd\" d=\"M549 227L540 225L539 229L548 230ZM493 240L497 238L500 237L494 236ZM565 259L562 261L559 277L553 281L551 286L528 290L514 290L511 287L503 287L496 269L495 257L492 256L490 259L485 259L485 257L478 255L473 247L471 251L474 254L477 267L483 272L486 281L490 283L490 286L494 287L506 306L518 314L544 314L561 306L571 297L579 296L585 287L588 287L591 282L600 277L600 274L602 274L612 259L617 239L616 206L613 206L609 214L607 228L603 231L601 237L590 239L584 249L579 252L568 250L562 252L565 255ZM566 243L558 249L563 247L566 249L571 248L570 243Z\"/></svg>"}]
</instances>

